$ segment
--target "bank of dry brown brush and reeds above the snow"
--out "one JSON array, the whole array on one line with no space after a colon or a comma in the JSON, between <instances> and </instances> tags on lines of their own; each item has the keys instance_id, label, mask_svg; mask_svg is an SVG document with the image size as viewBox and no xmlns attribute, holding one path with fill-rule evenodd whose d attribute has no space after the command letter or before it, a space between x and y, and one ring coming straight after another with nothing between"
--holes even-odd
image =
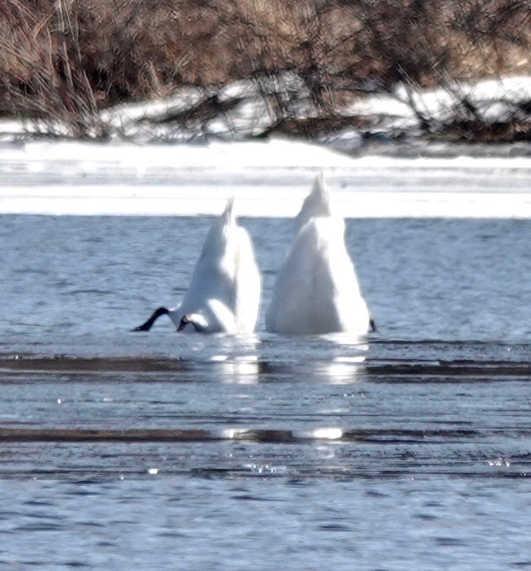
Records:
<instances>
[{"instance_id":1,"label":"bank of dry brown brush and reeds above the snow","mask_svg":"<svg viewBox=\"0 0 531 571\"><path fill-rule=\"evenodd\" d=\"M1 0L0 113L104 137L102 107L296 72L330 117L397 82L529 73L530 47L527 0Z\"/></svg>"}]
</instances>

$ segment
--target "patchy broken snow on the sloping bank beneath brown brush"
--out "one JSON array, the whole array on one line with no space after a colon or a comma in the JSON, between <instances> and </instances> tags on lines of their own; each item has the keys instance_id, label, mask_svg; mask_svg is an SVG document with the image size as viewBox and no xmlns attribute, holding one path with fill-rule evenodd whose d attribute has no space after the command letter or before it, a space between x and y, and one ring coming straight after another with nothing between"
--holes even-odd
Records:
<instances>
[{"instance_id":1,"label":"patchy broken snow on the sloping bank beneath brown brush","mask_svg":"<svg viewBox=\"0 0 531 571\"><path fill-rule=\"evenodd\" d=\"M408 94L409 91L409 94ZM262 134L273 125L275 117L269 96L282 102L288 117L306 118L315 115L315 109L308 99L304 81L295 73L280 74L278 77L239 80L217 88L186 87L167 99L128 103L107 108L100 112L101 122L110 128L116 140L129 139L136 143L157 141L190 142L205 141L218 137L234 140ZM419 130L416 117L409 100L421 114L435 121L444 121L455 116L460 101L467 97L481 111L486 120L504 119L514 111L514 106L531 99L531 76L499 77L483 79L474 83L450 82L446 88L415 90L399 85L391 94L375 93L357 99L337 112L345 117L355 116L368 119L368 131L382 134L406 131L414 134ZM209 97L218 104L228 105L225 112L216 114L215 106L209 110L211 117L202 121L189 117L185 125L176 117L205 102ZM208 106L207 106L208 107ZM0 120L0 138L11 141L24 133L67 134L65 125L49 125L39 121ZM353 150L362 146L360 132L355 128L332 133L325 137L342 150Z\"/></svg>"}]
</instances>

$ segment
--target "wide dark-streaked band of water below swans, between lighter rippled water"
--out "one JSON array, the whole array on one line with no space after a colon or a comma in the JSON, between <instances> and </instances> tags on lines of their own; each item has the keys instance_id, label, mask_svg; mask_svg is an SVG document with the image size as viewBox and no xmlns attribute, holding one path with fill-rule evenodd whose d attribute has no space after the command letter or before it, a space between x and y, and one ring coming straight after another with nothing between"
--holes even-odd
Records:
<instances>
[{"instance_id":1,"label":"wide dark-streaked band of water below swans, between lighter rippled water","mask_svg":"<svg viewBox=\"0 0 531 571\"><path fill-rule=\"evenodd\" d=\"M3 354L1 474L529 473L528 344L311 339L291 359L298 343L223 353L221 339L187 359Z\"/></svg>"}]
</instances>

